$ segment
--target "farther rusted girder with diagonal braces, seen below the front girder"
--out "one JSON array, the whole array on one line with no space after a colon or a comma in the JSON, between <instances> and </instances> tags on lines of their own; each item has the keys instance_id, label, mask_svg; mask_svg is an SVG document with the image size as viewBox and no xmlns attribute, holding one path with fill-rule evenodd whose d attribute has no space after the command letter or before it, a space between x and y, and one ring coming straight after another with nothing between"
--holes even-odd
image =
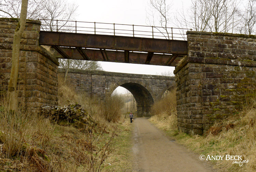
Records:
<instances>
[{"instance_id":1,"label":"farther rusted girder with diagonal braces, seen below the front girder","mask_svg":"<svg viewBox=\"0 0 256 172\"><path fill-rule=\"evenodd\" d=\"M68 59L77 59L77 60L85 60L83 55L78 51L77 48L70 48L70 47L59 47L65 54L68 56ZM103 58L102 52L99 49L85 49L81 48L83 53L86 54L88 60L93 61L105 61L106 59ZM129 51L128 51L129 52ZM157 54L143 52L125 52L125 51L114 51L114 50L105 50L105 54L108 54L109 62L120 62L120 63L134 63L134 64L151 64L151 65L165 65L165 66L176 66L176 64L183 58L183 56L178 56L170 63L170 58L173 59L171 54ZM129 54L128 57L125 58L125 54ZM60 53L54 51L54 55L57 58L62 58ZM103 54L104 55L104 54ZM151 61L149 61L151 56ZM105 57L105 56L104 56ZM127 59L128 58L128 59ZM169 61L168 61L169 60Z\"/></svg>"}]
</instances>

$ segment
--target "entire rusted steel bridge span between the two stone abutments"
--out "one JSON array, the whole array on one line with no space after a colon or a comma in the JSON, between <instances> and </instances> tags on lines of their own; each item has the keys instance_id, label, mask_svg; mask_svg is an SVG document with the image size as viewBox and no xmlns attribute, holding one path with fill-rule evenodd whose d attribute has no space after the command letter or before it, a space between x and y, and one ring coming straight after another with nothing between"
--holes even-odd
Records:
<instances>
[{"instance_id":1,"label":"entire rusted steel bridge span between the two stone abutments","mask_svg":"<svg viewBox=\"0 0 256 172\"><path fill-rule=\"evenodd\" d=\"M187 55L187 41L144 37L41 31L39 44L65 59L175 66Z\"/></svg>"}]
</instances>

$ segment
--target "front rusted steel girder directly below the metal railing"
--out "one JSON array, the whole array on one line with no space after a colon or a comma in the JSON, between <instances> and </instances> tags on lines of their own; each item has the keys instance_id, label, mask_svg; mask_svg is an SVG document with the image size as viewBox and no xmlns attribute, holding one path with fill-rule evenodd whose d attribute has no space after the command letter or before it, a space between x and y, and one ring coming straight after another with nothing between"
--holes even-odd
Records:
<instances>
[{"instance_id":1,"label":"front rusted steel girder directly below the metal railing","mask_svg":"<svg viewBox=\"0 0 256 172\"><path fill-rule=\"evenodd\" d=\"M187 41L144 37L41 31L39 44L187 55Z\"/></svg>"}]
</instances>

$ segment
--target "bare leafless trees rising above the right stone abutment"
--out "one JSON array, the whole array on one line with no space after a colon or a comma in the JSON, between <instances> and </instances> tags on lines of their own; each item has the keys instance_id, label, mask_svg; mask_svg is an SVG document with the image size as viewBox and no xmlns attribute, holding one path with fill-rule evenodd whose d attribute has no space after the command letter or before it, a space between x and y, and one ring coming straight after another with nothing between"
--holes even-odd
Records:
<instances>
[{"instance_id":1,"label":"bare leafless trees rising above the right stone abutment","mask_svg":"<svg viewBox=\"0 0 256 172\"><path fill-rule=\"evenodd\" d=\"M149 0L150 24L158 21L163 29L176 26L195 31L255 34L256 0L191 0L189 9L181 8L177 13L171 10L173 2Z\"/></svg>"}]
</instances>

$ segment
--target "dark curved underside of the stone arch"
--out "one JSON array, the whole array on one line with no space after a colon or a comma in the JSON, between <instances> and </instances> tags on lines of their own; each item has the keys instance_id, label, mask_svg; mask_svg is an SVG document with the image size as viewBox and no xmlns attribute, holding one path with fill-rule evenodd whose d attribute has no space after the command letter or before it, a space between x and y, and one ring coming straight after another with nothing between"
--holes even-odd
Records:
<instances>
[{"instance_id":1,"label":"dark curved underside of the stone arch","mask_svg":"<svg viewBox=\"0 0 256 172\"><path fill-rule=\"evenodd\" d=\"M142 116L144 112L149 113L152 105L154 104L154 98L150 91L148 91L143 85L135 82L127 82L119 85L127 89L134 97L137 103L137 115Z\"/></svg>"}]
</instances>

